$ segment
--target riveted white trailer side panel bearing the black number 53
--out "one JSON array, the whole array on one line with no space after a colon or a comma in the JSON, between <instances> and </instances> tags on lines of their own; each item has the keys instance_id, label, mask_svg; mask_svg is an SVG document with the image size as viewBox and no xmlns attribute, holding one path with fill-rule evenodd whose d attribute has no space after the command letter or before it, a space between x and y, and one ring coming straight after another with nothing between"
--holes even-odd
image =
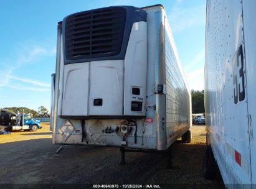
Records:
<instances>
[{"instance_id":1,"label":"riveted white trailer side panel bearing the black number 53","mask_svg":"<svg viewBox=\"0 0 256 189\"><path fill-rule=\"evenodd\" d=\"M204 87L207 142L225 184L246 184L251 179L245 86L242 1L208 0Z\"/></svg>"}]
</instances>

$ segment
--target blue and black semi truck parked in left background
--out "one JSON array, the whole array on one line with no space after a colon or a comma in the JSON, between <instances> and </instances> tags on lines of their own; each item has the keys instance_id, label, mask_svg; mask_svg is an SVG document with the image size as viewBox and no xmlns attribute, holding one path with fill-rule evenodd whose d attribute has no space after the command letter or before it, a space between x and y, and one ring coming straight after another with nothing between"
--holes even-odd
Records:
<instances>
[{"instance_id":1,"label":"blue and black semi truck parked in left background","mask_svg":"<svg viewBox=\"0 0 256 189\"><path fill-rule=\"evenodd\" d=\"M31 114L15 114L7 109L0 109L0 131L20 131L41 129L40 121L33 119Z\"/></svg>"}]
</instances>

